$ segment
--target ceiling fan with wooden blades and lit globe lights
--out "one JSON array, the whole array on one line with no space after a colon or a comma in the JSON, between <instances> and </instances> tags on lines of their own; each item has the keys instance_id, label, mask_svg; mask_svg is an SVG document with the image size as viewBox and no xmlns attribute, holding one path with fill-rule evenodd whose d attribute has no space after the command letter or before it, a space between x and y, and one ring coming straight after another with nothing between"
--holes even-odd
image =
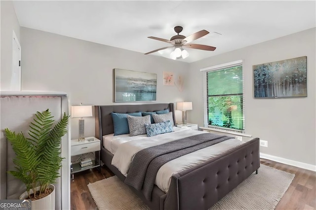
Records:
<instances>
[{"instance_id":1,"label":"ceiling fan with wooden blades and lit globe lights","mask_svg":"<svg viewBox=\"0 0 316 210\"><path fill-rule=\"evenodd\" d=\"M208 51L214 51L216 49L216 47L212 47L212 46L207 46L207 45L203 45L203 44L192 44L190 43L191 41L194 41L204 35L209 34L208 31L206 30L201 30L197 33L194 33L192 35L189 36L184 36L184 35L179 35L180 32L182 32L183 28L181 26L176 26L174 27L174 31L178 34L178 35L174 35L170 38L170 40L168 39L164 39L164 38L158 38L158 37L154 37L154 36L149 36L148 38L152 38L152 39L156 39L158 41L164 41L167 43L172 44L173 46L170 47L162 47L159 48L157 50L153 50L150 51L148 53L145 53L145 55L157 52L159 50L164 50L164 49L168 49L168 48L175 48L174 51L171 52L170 57L174 60L176 59L180 59L183 58L185 59L186 57L189 56L188 51L186 51L185 47L187 48L193 48L193 49L198 49L198 50L208 50Z\"/></svg>"}]
</instances>

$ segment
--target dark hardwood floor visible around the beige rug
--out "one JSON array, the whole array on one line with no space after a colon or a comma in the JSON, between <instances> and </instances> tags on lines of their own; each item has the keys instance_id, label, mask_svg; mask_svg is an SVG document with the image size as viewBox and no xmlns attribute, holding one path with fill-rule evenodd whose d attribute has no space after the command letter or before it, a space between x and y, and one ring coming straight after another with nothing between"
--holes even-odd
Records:
<instances>
[{"instance_id":1,"label":"dark hardwood floor visible around the beige rug","mask_svg":"<svg viewBox=\"0 0 316 210\"><path fill-rule=\"evenodd\" d=\"M261 164L295 174L295 178L285 192L276 210L316 210L316 172L261 159ZM94 201L87 187L88 183L114 175L107 167L75 174L71 183L71 209L96 210Z\"/></svg>"}]
</instances>

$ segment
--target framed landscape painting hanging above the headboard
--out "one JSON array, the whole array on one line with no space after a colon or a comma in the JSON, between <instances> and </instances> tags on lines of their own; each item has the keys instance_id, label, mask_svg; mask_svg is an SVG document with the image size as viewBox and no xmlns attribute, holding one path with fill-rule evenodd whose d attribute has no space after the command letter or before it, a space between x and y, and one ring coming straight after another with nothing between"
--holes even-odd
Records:
<instances>
[{"instance_id":1,"label":"framed landscape painting hanging above the headboard","mask_svg":"<svg viewBox=\"0 0 316 210\"><path fill-rule=\"evenodd\" d=\"M156 101L157 74L114 69L114 102Z\"/></svg>"}]
</instances>

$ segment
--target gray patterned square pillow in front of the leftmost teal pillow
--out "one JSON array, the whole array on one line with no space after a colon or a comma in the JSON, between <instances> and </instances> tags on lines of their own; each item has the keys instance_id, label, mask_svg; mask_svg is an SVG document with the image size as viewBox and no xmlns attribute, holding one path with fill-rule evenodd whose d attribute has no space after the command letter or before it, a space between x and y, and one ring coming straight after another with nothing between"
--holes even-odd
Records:
<instances>
[{"instance_id":1,"label":"gray patterned square pillow in front of the leftmost teal pillow","mask_svg":"<svg viewBox=\"0 0 316 210\"><path fill-rule=\"evenodd\" d=\"M134 117L127 115L127 122L129 128L129 136L137 136L146 134L145 124L150 124L150 115L144 117Z\"/></svg>"}]
</instances>

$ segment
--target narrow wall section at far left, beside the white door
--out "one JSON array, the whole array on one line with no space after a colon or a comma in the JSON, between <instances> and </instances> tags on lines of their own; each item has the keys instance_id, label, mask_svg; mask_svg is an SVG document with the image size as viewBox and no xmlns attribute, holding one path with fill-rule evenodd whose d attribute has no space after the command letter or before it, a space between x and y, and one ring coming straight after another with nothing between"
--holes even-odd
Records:
<instances>
[{"instance_id":1,"label":"narrow wall section at far left, beside the white door","mask_svg":"<svg viewBox=\"0 0 316 210\"><path fill-rule=\"evenodd\" d=\"M12 70L13 30L20 39L20 24L16 18L12 1L0 1L1 5L1 74L0 89L9 90Z\"/></svg>"}]
</instances>

